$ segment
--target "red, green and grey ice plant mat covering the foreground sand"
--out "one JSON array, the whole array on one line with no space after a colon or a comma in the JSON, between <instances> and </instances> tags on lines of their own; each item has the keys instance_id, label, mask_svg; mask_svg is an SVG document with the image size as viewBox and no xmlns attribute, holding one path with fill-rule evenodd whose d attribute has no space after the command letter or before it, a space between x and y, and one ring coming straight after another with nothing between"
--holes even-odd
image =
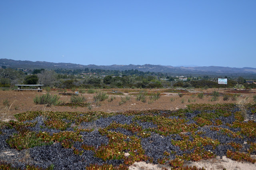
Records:
<instances>
[{"instance_id":1,"label":"red, green and grey ice plant mat covering the foreground sand","mask_svg":"<svg viewBox=\"0 0 256 170\"><path fill-rule=\"evenodd\" d=\"M176 111L28 111L0 122L0 169L128 169L138 161L187 167L227 156L256 162L256 105L244 121L235 104L193 104ZM10 156L12 154L12 156ZM23 155L20 158L17 155Z\"/></svg>"}]
</instances>

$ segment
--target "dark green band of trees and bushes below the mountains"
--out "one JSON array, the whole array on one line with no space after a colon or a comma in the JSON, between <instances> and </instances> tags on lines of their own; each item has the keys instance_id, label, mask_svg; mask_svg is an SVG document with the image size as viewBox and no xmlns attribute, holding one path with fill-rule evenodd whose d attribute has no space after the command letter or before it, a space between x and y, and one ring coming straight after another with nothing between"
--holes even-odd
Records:
<instances>
[{"instance_id":1,"label":"dark green band of trees and bushes below the mountains","mask_svg":"<svg viewBox=\"0 0 256 170\"><path fill-rule=\"evenodd\" d=\"M29 73L28 73L29 72ZM90 73L90 74L87 74ZM45 87L71 89L72 87L83 88L162 88L162 87L195 87L195 88L218 88L216 77L208 75L202 77L187 76L187 81L180 81L178 77L166 73L143 72L137 69L117 71L104 69L34 69L23 71L22 69L1 68L0 87L12 87L15 84L44 84ZM237 77L228 78L226 87L234 87L236 84L244 85L245 88L256 88L255 84L245 83L246 79Z\"/></svg>"}]
</instances>

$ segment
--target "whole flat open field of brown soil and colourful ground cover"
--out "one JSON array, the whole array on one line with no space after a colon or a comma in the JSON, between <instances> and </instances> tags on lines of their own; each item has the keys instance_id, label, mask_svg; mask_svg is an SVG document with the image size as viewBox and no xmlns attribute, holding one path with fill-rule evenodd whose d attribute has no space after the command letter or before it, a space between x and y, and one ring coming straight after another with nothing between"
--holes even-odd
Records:
<instances>
[{"instance_id":1,"label":"whole flat open field of brown soil and colourful ground cover","mask_svg":"<svg viewBox=\"0 0 256 170\"><path fill-rule=\"evenodd\" d=\"M0 91L0 168L256 169L256 90L146 89L144 102L142 89L100 91L109 96L98 103L79 94L89 107L36 105L44 90ZM63 103L74 94L49 93Z\"/></svg>"}]
</instances>

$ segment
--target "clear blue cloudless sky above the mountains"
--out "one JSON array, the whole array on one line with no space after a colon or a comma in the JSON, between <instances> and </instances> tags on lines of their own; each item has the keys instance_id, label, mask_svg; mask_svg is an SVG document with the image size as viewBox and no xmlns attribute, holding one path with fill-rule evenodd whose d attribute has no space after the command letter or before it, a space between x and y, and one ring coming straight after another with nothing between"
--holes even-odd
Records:
<instances>
[{"instance_id":1,"label":"clear blue cloudless sky above the mountains","mask_svg":"<svg viewBox=\"0 0 256 170\"><path fill-rule=\"evenodd\" d=\"M256 0L2 0L0 58L256 67Z\"/></svg>"}]
</instances>

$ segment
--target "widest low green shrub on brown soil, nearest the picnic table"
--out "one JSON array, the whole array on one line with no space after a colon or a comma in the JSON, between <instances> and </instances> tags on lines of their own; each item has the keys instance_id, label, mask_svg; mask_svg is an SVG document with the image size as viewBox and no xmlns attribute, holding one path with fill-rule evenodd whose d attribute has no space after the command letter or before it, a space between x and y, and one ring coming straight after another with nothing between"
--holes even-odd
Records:
<instances>
[{"instance_id":1,"label":"widest low green shrub on brown soil, nearest the picnic table","mask_svg":"<svg viewBox=\"0 0 256 170\"><path fill-rule=\"evenodd\" d=\"M51 95L50 93L46 93L45 95L42 95L40 97L36 96L34 98L34 103L40 104L40 105L56 105L58 103L58 100L60 99L57 95Z\"/></svg>"}]
</instances>

